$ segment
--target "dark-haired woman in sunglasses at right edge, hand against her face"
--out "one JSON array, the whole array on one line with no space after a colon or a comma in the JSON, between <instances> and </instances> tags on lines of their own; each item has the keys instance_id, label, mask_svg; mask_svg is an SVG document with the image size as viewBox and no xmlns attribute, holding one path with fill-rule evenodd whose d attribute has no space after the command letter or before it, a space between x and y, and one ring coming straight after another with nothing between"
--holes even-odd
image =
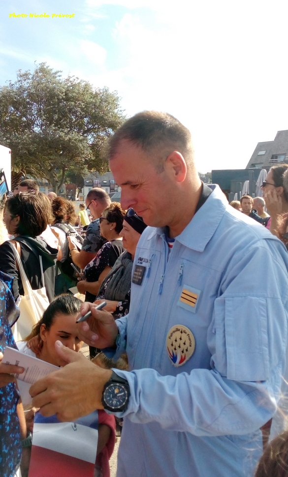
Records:
<instances>
[{"instance_id":1,"label":"dark-haired woman in sunglasses at right edge, hand against her face","mask_svg":"<svg viewBox=\"0 0 288 477\"><path fill-rule=\"evenodd\" d=\"M273 235L278 235L279 219L288 212L288 191L283 186L283 176L287 168L288 164L271 167L261 185L263 199L270 214L267 228Z\"/></svg>"}]
</instances>

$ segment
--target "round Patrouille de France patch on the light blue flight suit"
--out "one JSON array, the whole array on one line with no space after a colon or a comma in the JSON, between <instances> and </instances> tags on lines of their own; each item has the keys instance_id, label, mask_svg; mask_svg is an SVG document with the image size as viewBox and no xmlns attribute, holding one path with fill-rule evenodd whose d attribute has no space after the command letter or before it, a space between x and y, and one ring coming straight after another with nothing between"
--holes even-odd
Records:
<instances>
[{"instance_id":1,"label":"round Patrouille de France patch on the light blue flight suit","mask_svg":"<svg viewBox=\"0 0 288 477\"><path fill-rule=\"evenodd\" d=\"M195 351L195 338L186 326L175 325L166 338L167 353L174 366L184 365Z\"/></svg>"}]
</instances>

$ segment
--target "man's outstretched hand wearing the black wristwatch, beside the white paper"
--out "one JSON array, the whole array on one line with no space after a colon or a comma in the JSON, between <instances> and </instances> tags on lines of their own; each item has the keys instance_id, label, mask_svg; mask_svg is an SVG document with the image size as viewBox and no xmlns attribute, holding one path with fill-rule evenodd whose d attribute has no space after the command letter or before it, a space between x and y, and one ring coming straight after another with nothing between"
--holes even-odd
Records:
<instances>
[{"instance_id":1,"label":"man's outstretched hand wearing the black wristwatch, beside the white paper","mask_svg":"<svg viewBox=\"0 0 288 477\"><path fill-rule=\"evenodd\" d=\"M69 364L31 386L33 406L40 407L43 416L56 414L60 421L74 421L103 409L103 387L112 371L96 366L81 353L66 348L61 341L56 341L55 348Z\"/></svg>"}]
</instances>

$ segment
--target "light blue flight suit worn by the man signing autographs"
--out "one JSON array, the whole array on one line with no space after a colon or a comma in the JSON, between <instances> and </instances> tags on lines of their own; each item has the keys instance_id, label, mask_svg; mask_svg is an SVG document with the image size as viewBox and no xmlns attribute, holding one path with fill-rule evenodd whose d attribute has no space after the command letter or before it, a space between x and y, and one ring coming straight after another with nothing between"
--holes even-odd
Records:
<instances>
[{"instance_id":1,"label":"light blue flight suit worn by the man signing autographs","mask_svg":"<svg viewBox=\"0 0 288 477\"><path fill-rule=\"evenodd\" d=\"M127 350L130 372L115 372L131 393L128 409L116 414L125 417L118 477L253 476L259 428L276 410L286 361L287 250L230 207L217 185L209 187L169 257L163 229L147 227L138 243L138 275L129 314L117 320L114 355ZM181 299L185 291L193 306ZM195 339L181 366L167 349L176 325Z\"/></svg>"}]
</instances>

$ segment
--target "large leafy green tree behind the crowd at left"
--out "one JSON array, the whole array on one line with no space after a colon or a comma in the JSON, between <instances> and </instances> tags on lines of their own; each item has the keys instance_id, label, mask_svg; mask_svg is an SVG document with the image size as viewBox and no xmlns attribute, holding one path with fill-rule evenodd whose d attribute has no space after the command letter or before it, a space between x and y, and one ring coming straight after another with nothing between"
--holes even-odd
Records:
<instances>
[{"instance_id":1,"label":"large leafy green tree behind the crowd at left","mask_svg":"<svg viewBox=\"0 0 288 477\"><path fill-rule=\"evenodd\" d=\"M125 119L116 92L61 73L40 63L0 87L0 144L11 149L12 179L45 178L55 192L69 170L108 170L101 147Z\"/></svg>"}]
</instances>

